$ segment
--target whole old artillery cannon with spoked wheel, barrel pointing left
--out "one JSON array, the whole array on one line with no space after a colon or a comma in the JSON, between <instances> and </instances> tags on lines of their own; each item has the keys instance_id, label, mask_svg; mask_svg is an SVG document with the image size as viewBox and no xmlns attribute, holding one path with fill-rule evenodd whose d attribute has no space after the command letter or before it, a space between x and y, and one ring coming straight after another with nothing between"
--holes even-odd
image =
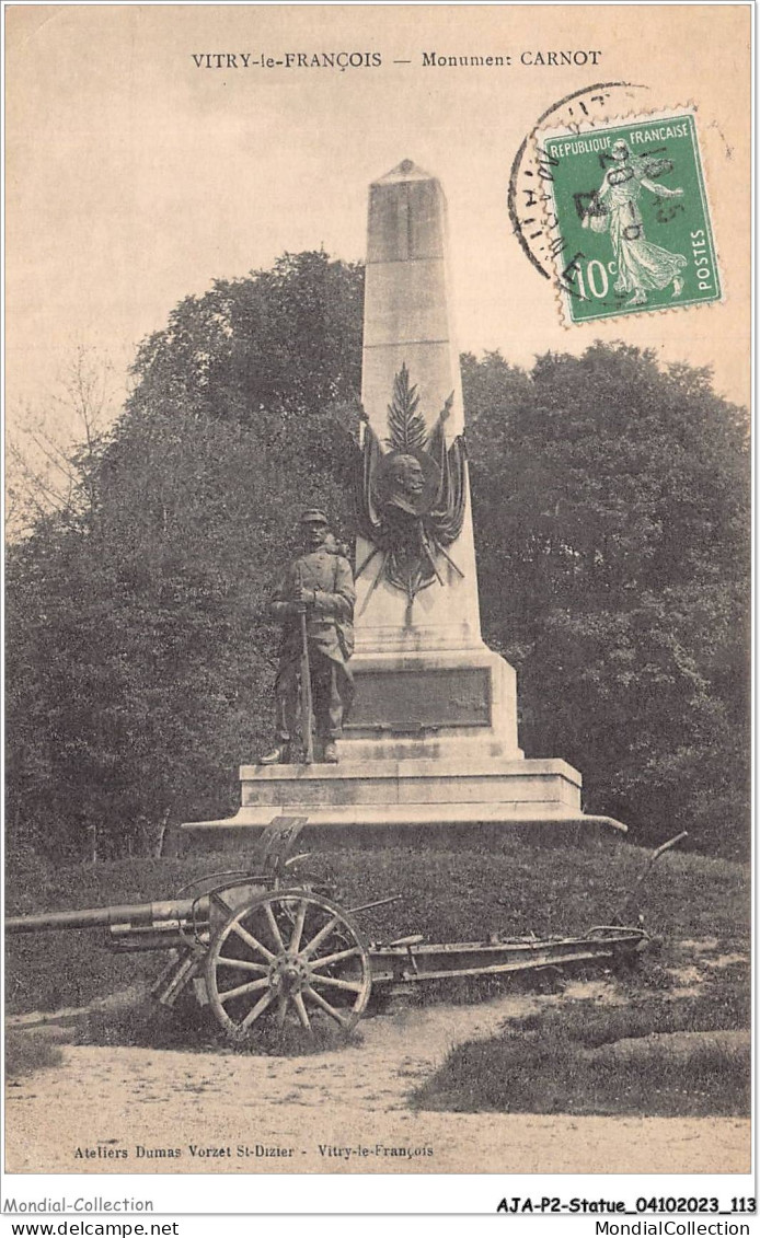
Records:
<instances>
[{"instance_id":1,"label":"whole old artillery cannon with spoked wheel, barrel pointing left","mask_svg":"<svg viewBox=\"0 0 760 1238\"><path fill-rule=\"evenodd\" d=\"M306 822L272 822L259 839L251 872L210 874L170 901L19 916L5 921L6 932L100 927L118 952L167 950L171 958L152 987L153 998L173 1006L192 988L231 1039L287 1024L313 1030L321 1021L349 1031L373 987L609 961L635 956L647 945L640 925L597 926L582 937L543 941L427 943L412 935L370 943L354 916L400 896L345 910L318 879L293 884L288 868L304 857L287 855Z\"/></svg>"}]
</instances>

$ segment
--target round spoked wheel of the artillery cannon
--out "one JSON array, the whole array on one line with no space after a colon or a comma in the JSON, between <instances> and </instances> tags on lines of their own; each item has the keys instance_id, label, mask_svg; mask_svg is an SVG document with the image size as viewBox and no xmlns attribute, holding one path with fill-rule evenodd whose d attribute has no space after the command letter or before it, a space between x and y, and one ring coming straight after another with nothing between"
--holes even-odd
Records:
<instances>
[{"instance_id":1,"label":"round spoked wheel of the artillery cannon","mask_svg":"<svg viewBox=\"0 0 760 1238\"><path fill-rule=\"evenodd\" d=\"M371 963L360 932L334 903L270 890L220 928L205 983L233 1039L292 1026L350 1031L369 1002Z\"/></svg>"}]
</instances>

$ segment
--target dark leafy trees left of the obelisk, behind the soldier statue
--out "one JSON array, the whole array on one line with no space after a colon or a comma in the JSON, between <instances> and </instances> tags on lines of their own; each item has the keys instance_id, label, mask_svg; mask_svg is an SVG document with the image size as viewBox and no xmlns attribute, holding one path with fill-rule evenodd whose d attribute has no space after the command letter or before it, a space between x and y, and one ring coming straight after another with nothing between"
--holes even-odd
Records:
<instances>
[{"instance_id":1,"label":"dark leafy trees left of the obelisk, behind the soldier statue","mask_svg":"<svg viewBox=\"0 0 760 1238\"><path fill-rule=\"evenodd\" d=\"M298 508L350 534L361 281L302 254L183 301L80 453L90 501L12 550L11 846L145 851L163 823L234 811L236 765L270 738L262 609Z\"/></svg>"}]
</instances>

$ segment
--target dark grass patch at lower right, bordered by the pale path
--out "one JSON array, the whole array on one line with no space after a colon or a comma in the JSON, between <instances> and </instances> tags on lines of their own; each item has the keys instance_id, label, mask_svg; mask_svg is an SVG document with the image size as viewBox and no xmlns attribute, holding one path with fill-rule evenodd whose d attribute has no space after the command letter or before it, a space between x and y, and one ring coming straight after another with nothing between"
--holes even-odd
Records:
<instances>
[{"instance_id":1,"label":"dark grass patch at lower right, bordered by the pale path","mask_svg":"<svg viewBox=\"0 0 760 1238\"><path fill-rule=\"evenodd\" d=\"M739 1117L750 1113L750 977L694 998L574 1002L459 1045L416 1093L422 1109Z\"/></svg>"}]
</instances>

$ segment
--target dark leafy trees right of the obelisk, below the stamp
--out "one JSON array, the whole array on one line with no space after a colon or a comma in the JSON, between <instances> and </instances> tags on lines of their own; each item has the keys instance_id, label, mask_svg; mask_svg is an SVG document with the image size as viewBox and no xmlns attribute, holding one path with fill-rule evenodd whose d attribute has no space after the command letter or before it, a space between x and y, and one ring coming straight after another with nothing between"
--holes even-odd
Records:
<instances>
[{"instance_id":1,"label":"dark leafy trees right of the obelisk, below the stamp","mask_svg":"<svg viewBox=\"0 0 760 1238\"><path fill-rule=\"evenodd\" d=\"M625 345L463 378L484 629L520 672L526 750L578 765L639 837L745 847L743 410Z\"/></svg>"}]
</instances>

